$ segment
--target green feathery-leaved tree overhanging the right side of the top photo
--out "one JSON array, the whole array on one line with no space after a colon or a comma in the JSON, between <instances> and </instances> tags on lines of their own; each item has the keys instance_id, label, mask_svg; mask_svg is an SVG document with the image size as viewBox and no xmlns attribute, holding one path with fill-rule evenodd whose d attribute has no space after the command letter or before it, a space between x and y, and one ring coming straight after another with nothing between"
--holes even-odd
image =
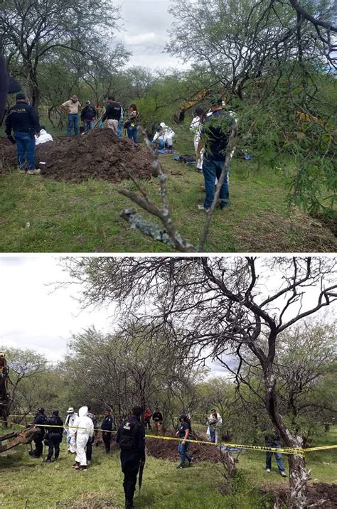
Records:
<instances>
[{"instance_id":1,"label":"green feathery-leaved tree overhanging the right side of the top photo","mask_svg":"<svg viewBox=\"0 0 337 509\"><path fill-rule=\"evenodd\" d=\"M167 47L205 68L213 92L237 112L237 148L281 168L289 204L314 215L335 215L335 7L330 0L305 8L297 0L179 0Z\"/></svg>"}]
</instances>

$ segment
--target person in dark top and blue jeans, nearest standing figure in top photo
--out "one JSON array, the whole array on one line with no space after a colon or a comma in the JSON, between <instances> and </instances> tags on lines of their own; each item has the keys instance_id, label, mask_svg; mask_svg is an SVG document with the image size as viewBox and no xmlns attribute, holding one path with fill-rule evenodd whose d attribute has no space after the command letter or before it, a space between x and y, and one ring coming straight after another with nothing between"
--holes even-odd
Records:
<instances>
[{"instance_id":1,"label":"person in dark top and blue jeans, nearest standing figure in top photo","mask_svg":"<svg viewBox=\"0 0 337 509\"><path fill-rule=\"evenodd\" d=\"M199 159L201 149L205 149L203 156L203 176L205 178L205 201L203 205L198 205L199 210L208 212L214 200L215 179L220 179L221 173L225 171L225 180L220 189L220 208L223 210L228 207L229 187L228 171L225 169L226 149L228 139L233 124L236 131L235 119L229 113L223 110L223 101L219 97L213 100L210 112L203 124L196 158Z\"/></svg>"}]
</instances>

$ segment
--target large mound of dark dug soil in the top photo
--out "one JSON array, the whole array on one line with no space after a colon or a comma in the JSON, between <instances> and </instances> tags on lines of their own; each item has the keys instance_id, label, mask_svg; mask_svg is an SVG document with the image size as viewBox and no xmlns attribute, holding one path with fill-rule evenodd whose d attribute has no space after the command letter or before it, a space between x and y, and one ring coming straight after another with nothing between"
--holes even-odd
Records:
<instances>
[{"instance_id":1,"label":"large mound of dark dug soil in the top photo","mask_svg":"<svg viewBox=\"0 0 337 509\"><path fill-rule=\"evenodd\" d=\"M54 139L36 147L36 163L41 174L53 180L82 182L103 178L120 182L130 178L149 179L154 175L151 154L126 138L118 138L111 129L97 129L82 136ZM0 171L17 166L16 147L0 141ZM129 172L129 173L128 173Z\"/></svg>"}]
</instances>

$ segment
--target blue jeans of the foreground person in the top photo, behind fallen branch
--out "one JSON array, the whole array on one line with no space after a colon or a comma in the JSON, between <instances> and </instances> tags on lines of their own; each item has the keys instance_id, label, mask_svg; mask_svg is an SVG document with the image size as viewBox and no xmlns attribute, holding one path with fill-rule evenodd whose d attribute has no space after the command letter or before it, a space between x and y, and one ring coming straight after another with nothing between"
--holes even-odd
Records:
<instances>
[{"instance_id":1,"label":"blue jeans of the foreground person in the top photo, behind fallen branch","mask_svg":"<svg viewBox=\"0 0 337 509\"><path fill-rule=\"evenodd\" d=\"M225 166L225 161L209 161L208 159L203 159L203 176L205 178L205 191L206 198L203 206L205 208L210 208L212 205L215 195L215 177L220 179L221 173L223 173L223 168ZM229 168L228 168L229 169ZM229 188L228 188L228 170L225 172L225 181L220 189L220 207L227 207L228 198L230 196Z\"/></svg>"}]
</instances>

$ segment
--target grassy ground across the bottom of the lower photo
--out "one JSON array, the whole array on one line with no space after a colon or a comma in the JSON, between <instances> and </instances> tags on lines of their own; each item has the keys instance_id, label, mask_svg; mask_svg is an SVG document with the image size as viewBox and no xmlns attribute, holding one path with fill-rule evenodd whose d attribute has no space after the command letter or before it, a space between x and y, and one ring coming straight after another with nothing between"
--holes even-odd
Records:
<instances>
[{"instance_id":1,"label":"grassy ground across the bottom of the lower photo","mask_svg":"<svg viewBox=\"0 0 337 509\"><path fill-rule=\"evenodd\" d=\"M319 444L336 444L337 429L319 440ZM28 446L29 447L29 446ZM101 448L94 448L92 464L86 472L71 468L73 456L65 453L60 460L46 464L41 459L26 456L25 446L0 456L0 504L8 509L52 508L122 508L124 493L119 454L105 456ZM178 459L178 458L177 458ZM337 467L333 464L336 452L322 451L308 454L312 482L336 482ZM284 457L284 460L285 457ZM178 463L177 463L178 464ZM285 461L287 465L287 461ZM183 471L176 464L148 457L141 494L135 497L139 509L258 509L268 508L269 495L280 486L287 486L287 478L278 475L273 464L272 473L264 471L264 453L250 452L240 456L239 468L245 483L230 496L220 493L222 476L219 466L202 463ZM286 468L287 470L287 468Z\"/></svg>"}]
</instances>

